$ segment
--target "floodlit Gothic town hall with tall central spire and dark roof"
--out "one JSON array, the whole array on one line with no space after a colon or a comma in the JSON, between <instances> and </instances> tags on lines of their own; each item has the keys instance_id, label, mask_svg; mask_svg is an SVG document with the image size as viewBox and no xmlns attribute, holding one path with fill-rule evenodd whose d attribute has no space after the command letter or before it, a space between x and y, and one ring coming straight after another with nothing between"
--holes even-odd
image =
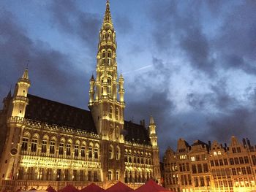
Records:
<instances>
[{"instance_id":1,"label":"floodlit Gothic town hall with tall central spire and dark roof","mask_svg":"<svg viewBox=\"0 0 256 192\"><path fill-rule=\"evenodd\" d=\"M124 120L124 77L118 77L116 31L107 1L99 31L96 78L89 109L29 94L28 69L0 113L1 191L18 188L108 188L118 180L132 188L160 180L156 125Z\"/></svg>"}]
</instances>

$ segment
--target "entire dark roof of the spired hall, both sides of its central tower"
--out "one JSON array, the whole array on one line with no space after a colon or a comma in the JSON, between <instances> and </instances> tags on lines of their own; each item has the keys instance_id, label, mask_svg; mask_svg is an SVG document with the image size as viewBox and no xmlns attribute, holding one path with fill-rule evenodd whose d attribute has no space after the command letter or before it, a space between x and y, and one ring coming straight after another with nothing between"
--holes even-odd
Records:
<instances>
[{"instance_id":1,"label":"entire dark roof of the spired hall, both sides of its central tower","mask_svg":"<svg viewBox=\"0 0 256 192\"><path fill-rule=\"evenodd\" d=\"M25 118L97 134L90 111L31 94L28 94L28 98L29 105L26 107ZM124 130L124 138L126 140L150 145L148 131L144 126L125 120Z\"/></svg>"}]
</instances>

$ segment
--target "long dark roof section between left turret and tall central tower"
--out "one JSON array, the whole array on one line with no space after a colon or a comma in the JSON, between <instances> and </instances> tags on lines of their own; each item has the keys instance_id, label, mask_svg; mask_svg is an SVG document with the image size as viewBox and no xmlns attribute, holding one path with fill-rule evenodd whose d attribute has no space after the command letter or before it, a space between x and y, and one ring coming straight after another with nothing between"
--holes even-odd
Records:
<instances>
[{"instance_id":1,"label":"long dark roof section between left turret and tall central tower","mask_svg":"<svg viewBox=\"0 0 256 192\"><path fill-rule=\"evenodd\" d=\"M91 112L39 96L29 94L28 97L25 118L97 134Z\"/></svg>"}]
</instances>

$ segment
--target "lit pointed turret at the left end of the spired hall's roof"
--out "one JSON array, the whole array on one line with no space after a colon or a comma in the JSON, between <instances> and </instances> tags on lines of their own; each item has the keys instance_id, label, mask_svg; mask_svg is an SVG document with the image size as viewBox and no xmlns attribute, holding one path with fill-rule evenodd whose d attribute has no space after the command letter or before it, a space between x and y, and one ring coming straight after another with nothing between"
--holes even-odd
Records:
<instances>
[{"instance_id":1,"label":"lit pointed turret at the left end of the spired hall's roof","mask_svg":"<svg viewBox=\"0 0 256 192\"><path fill-rule=\"evenodd\" d=\"M29 99L27 98L29 86L29 70L26 69L15 86L15 92L12 99L12 117L24 118L26 106L29 104Z\"/></svg>"}]
</instances>

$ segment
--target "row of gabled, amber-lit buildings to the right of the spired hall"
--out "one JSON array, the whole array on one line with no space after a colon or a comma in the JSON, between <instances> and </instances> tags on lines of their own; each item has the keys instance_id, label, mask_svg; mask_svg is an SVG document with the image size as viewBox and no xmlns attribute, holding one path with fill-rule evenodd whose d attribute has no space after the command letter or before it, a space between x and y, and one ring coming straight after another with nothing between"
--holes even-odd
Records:
<instances>
[{"instance_id":1,"label":"row of gabled, amber-lit buildings to the right of the spired hall","mask_svg":"<svg viewBox=\"0 0 256 192\"><path fill-rule=\"evenodd\" d=\"M164 156L165 187L173 191L256 191L256 147L248 139L230 145L178 140Z\"/></svg>"}]
</instances>

